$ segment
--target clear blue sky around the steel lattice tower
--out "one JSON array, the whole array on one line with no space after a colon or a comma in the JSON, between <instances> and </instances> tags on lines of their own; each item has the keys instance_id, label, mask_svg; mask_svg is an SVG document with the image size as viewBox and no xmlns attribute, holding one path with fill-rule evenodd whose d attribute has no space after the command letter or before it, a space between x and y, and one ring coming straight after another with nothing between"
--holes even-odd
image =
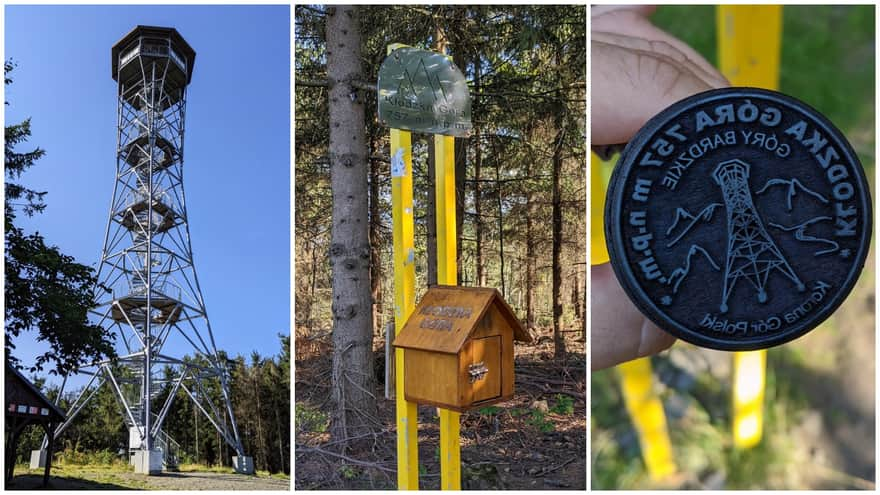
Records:
<instances>
[{"instance_id":1,"label":"clear blue sky around the steel lattice tower","mask_svg":"<svg viewBox=\"0 0 880 495\"><path fill-rule=\"evenodd\" d=\"M6 123L31 117L46 156L20 182L48 191L31 219L50 244L97 266L116 166L110 48L134 26L176 28L196 51L184 187L196 271L219 349L280 351L290 332L288 6L7 6ZM23 335L16 355L41 347ZM32 340L32 338L30 339Z\"/></svg>"}]
</instances>

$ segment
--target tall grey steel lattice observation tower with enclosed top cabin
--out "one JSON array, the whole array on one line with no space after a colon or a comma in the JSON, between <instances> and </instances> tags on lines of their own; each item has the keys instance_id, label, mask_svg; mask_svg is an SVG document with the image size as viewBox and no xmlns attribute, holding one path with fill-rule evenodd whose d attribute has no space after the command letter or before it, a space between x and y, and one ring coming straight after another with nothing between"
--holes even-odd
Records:
<instances>
[{"instance_id":1,"label":"tall grey steel lattice observation tower with enclosed top cabin","mask_svg":"<svg viewBox=\"0 0 880 495\"><path fill-rule=\"evenodd\" d=\"M232 412L229 372L217 353L196 276L187 222L183 135L195 55L177 30L164 27L137 26L113 46L116 181L98 268L99 286L109 292L98 289L91 313L116 334L118 357L74 372L88 376L88 384L55 437L98 388L110 387L129 428L135 471L174 469L178 445L162 425L183 390L235 450L236 471L253 473ZM186 355L193 359L184 361Z\"/></svg>"}]
</instances>

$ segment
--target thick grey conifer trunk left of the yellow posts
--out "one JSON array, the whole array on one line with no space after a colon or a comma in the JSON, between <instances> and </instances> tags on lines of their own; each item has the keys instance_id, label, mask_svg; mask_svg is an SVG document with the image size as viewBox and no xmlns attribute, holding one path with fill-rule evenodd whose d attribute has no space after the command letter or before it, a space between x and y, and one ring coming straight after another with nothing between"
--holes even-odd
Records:
<instances>
[{"instance_id":1,"label":"thick grey conifer trunk left of the yellow posts","mask_svg":"<svg viewBox=\"0 0 880 495\"><path fill-rule=\"evenodd\" d=\"M373 373L370 240L364 105L352 81L361 79L357 7L327 9L330 80L330 187L333 194L330 267L333 282L333 413L330 434L343 449L371 430L377 416Z\"/></svg>"}]
</instances>

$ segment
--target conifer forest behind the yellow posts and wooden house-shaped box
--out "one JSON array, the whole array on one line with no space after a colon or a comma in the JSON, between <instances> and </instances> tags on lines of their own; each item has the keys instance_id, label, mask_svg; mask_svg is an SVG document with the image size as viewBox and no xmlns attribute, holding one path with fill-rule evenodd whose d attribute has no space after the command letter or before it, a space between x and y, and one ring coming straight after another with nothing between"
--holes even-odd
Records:
<instances>
[{"instance_id":1,"label":"conifer forest behind the yellow posts and wooden house-shaped box","mask_svg":"<svg viewBox=\"0 0 880 495\"><path fill-rule=\"evenodd\" d=\"M376 93L393 43L445 53L465 76L458 285L496 288L532 336L516 345L515 397L462 414L462 458L485 467L464 467L463 486L585 486L585 16L583 6L295 8L296 487L395 486L391 157ZM417 300L437 283L433 148L412 134ZM437 488L436 410L419 411L421 486Z\"/></svg>"}]
</instances>

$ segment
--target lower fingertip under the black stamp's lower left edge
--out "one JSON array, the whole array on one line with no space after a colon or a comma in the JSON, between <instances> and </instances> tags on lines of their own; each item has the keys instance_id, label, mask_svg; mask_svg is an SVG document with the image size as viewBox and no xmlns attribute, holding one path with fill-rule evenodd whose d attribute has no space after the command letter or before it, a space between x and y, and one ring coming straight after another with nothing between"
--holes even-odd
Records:
<instances>
[{"instance_id":1,"label":"lower fingertip under the black stamp's lower left edge","mask_svg":"<svg viewBox=\"0 0 880 495\"><path fill-rule=\"evenodd\" d=\"M608 263L591 268L591 369L656 354L675 338L649 322L630 301Z\"/></svg>"}]
</instances>

